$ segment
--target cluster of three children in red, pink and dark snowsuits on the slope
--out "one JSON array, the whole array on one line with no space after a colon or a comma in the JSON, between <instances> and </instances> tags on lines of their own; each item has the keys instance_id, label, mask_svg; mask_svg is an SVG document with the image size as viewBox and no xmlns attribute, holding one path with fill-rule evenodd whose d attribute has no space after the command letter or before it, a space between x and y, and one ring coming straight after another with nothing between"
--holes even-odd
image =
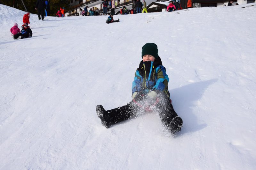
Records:
<instances>
[{"instance_id":1,"label":"cluster of three children in red, pink and dark snowsuits on the slope","mask_svg":"<svg viewBox=\"0 0 256 170\"><path fill-rule=\"evenodd\" d=\"M30 26L28 26L28 24L30 24L29 18L29 12L23 15L23 25L21 26L21 31L20 28L18 27L19 25L17 23L14 23L14 26L10 29L12 38L14 40L32 37L33 33L30 29Z\"/></svg>"}]
</instances>

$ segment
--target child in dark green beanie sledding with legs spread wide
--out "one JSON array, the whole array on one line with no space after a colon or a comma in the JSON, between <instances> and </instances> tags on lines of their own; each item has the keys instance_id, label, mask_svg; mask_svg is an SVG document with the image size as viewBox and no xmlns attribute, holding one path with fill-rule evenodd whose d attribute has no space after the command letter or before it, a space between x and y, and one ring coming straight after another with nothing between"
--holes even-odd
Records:
<instances>
[{"instance_id":1,"label":"child in dark green beanie sledding with legs spread wide","mask_svg":"<svg viewBox=\"0 0 256 170\"><path fill-rule=\"evenodd\" d=\"M168 75L158 56L155 43L146 43L142 47L142 61L135 72L132 82L132 101L122 107L106 111L102 105L96 107L96 113L106 128L122 122L138 113L157 110L164 127L172 134L180 131L182 119L172 107L168 91Z\"/></svg>"}]
</instances>

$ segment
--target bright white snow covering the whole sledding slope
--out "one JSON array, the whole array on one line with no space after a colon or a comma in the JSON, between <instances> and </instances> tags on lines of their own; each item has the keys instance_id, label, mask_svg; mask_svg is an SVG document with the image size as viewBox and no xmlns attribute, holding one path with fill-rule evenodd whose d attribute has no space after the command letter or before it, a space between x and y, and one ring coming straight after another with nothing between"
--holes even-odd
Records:
<instances>
[{"instance_id":1,"label":"bright white snow covering the whole sledding slope","mask_svg":"<svg viewBox=\"0 0 256 170\"><path fill-rule=\"evenodd\" d=\"M254 5L254 6L249 6ZM241 8L245 7L246 8ZM47 17L0 5L0 169L256 169L256 4ZM95 107L131 101L141 47L158 45L183 128L157 113L106 129Z\"/></svg>"}]
</instances>

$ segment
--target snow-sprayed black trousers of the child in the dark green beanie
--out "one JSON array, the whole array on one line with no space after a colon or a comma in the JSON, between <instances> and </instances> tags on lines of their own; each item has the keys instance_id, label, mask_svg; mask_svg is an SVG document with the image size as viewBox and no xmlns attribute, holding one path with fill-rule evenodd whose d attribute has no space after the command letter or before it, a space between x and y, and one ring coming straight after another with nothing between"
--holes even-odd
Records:
<instances>
[{"instance_id":1,"label":"snow-sprayed black trousers of the child in the dark green beanie","mask_svg":"<svg viewBox=\"0 0 256 170\"><path fill-rule=\"evenodd\" d=\"M159 99L155 107L158 110L161 122L166 127L170 126L170 123L175 116L178 116L173 109L170 99L167 96ZM139 112L143 112L143 111L145 110L132 100L131 102L127 103L127 105L125 106L108 110L107 113L112 120L109 123L113 125L113 124L122 122L124 120L128 120L133 117L136 117L138 116Z\"/></svg>"}]
</instances>

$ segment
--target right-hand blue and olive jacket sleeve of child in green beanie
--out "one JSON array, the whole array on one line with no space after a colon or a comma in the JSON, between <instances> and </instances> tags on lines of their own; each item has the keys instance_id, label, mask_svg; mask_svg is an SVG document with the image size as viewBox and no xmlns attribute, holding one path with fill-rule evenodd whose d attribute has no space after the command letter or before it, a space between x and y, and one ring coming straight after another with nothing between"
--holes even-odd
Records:
<instances>
[{"instance_id":1,"label":"right-hand blue and olive jacket sleeve of child in green beanie","mask_svg":"<svg viewBox=\"0 0 256 170\"><path fill-rule=\"evenodd\" d=\"M168 90L168 82L169 82L169 77L166 74L166 69L164 66L160 66L156 68L156 85L153 87L153 90L157 91L164 91Z\"/></svg>"}]
</instances>

